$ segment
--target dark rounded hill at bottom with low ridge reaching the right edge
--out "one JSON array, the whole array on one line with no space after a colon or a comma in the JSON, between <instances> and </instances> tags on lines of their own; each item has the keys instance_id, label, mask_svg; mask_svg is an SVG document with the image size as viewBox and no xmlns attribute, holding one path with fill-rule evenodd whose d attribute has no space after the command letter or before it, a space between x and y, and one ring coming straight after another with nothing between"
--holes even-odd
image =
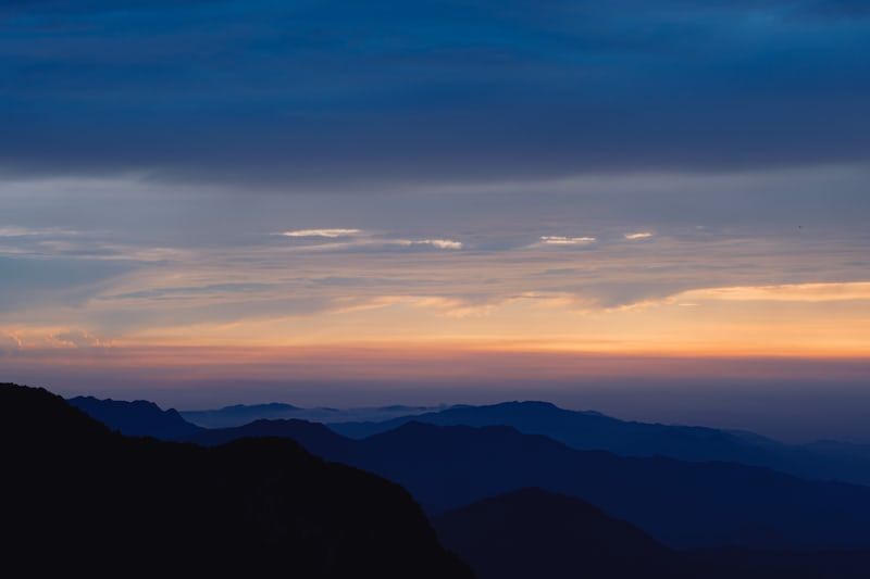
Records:
<instances>
[{"instance_id":1,"label":"dark rounded hill at bottom with low ridge reaching the right edge","mask_svg":"<svg viewBox=\"0 0 870 579\"><path fill-rule=\"evenodd\" d=\"M588 503L522 489L433 518L480 579L867 579L870 553L678 552Z\"/></svg>"}]
</instances>

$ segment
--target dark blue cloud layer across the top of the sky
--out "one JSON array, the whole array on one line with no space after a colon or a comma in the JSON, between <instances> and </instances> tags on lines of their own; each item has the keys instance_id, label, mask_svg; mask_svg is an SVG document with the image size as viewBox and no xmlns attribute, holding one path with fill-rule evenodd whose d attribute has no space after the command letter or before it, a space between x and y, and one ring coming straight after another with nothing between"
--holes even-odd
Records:
<instances>
[{"instance_id":1,"label":"dark blue cloud layer across the top of the sky","mask_svg":"<svg viewBox=\"0 0 870 579\"><path fill-rule=\"evenodd\" d=\"M0 168L364 188L867 161L848 0L7 2Z\"/></svg>"}]
</instances>

